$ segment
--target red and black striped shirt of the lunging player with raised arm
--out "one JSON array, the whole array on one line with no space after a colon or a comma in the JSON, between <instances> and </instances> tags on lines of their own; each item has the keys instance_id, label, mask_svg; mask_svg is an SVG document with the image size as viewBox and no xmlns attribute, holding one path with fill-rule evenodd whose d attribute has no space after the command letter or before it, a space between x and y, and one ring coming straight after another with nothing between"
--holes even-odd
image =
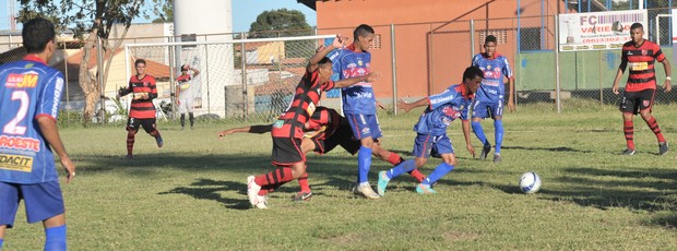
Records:
<instances>
[{"instance_id":1,"label":"red and black striped shirt of the lunging player with raised arm","mask_svg":"<svg viewBox=\"0 0 677 251\"><path fill-rule=\"evenodd\" d=\"M289 107L273 123L272 135L275 138L304 138L304 125L313 115L322 92L332 89L333 81L320 83L319 70L308 72L296 86L296 94Z\"/></svg>"}]
</instances>

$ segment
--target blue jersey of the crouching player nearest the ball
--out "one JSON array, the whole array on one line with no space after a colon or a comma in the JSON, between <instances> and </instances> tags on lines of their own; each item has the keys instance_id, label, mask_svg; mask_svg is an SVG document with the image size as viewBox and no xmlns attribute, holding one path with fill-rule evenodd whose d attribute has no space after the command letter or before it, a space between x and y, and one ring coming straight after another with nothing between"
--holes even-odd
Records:
<instances>
[{"instance_id":1,"label":"blue jersey of the crouching player nearest the ball","mask_svg":"<svg viewBox=\"0 0 677 251\"><path fill-rule=\"evenodd\" d=\"M430 106L426 108L414 125L414 131L432 136L443 135L451 121L461 118L467 120L473 95L465 93L465 85L449 86L444 92L428 97Z\"/></svg>"}]
</instances>

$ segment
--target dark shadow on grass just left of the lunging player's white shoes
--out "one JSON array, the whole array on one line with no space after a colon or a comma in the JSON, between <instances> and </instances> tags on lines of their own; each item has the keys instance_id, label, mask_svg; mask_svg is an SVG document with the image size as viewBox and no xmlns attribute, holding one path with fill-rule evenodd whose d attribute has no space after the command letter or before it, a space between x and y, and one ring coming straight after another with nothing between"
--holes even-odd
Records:
<instances>
[{"instance_id":1,"label":"dark shadow on grass just left of the lunging player's white shoes","mask_svg":"<svg viewBox=\"0 0 677 251\"><path fill-rule=\"evenodd\" d=\"M215 201L233 210L248 210L251 206L247 200L247 191L242 191L242 189L247 189L247 184L233 181L198 179L189 187L179 187L158 194L186 194L197 200ZM242 199L224 198L219 194L219 192L228 191L239 191L238 193L244 194Z\"/></svg>"}]
</instances>

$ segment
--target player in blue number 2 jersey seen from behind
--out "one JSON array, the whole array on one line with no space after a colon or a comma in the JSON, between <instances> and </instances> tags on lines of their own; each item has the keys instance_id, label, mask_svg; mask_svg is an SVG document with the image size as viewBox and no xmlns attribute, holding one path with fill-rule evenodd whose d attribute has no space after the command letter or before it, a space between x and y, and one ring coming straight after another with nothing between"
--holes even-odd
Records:
<instances>
[{"instance_id":1,"label":"player in blue number 2 jersey seen from behind","mask_svg":"<svg viewBox=\"0 0 677 251\"><path fill-rule=\"evenodd\" d=\"M37 17L21 36L28 55L0 67L0 249L23 200L28 223L43 222L45 250L66 250L66 207L51 151L68 171L66 182L75 165L57 130L63 74L47 65L57 50L55 26Z\"/></svg>"}]
</instances>

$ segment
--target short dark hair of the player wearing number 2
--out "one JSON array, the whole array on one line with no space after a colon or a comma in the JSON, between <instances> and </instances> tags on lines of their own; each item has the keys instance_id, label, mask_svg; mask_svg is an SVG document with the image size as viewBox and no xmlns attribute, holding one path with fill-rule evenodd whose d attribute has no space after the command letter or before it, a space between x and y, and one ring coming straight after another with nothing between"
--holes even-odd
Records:
<instances>
[{"instance_id":1,"label":"short dark hair of the player wearing number 2","mask_svg":"<svg viewBox=\"0 0 677 251\"><path fill-rule=\"evenodd\" d=\"M28 53L45 51L47 43L56 39L55 24L51 21L35 17L24 24L21 31L24 48Z\"/></svg>"}]
</instances>

